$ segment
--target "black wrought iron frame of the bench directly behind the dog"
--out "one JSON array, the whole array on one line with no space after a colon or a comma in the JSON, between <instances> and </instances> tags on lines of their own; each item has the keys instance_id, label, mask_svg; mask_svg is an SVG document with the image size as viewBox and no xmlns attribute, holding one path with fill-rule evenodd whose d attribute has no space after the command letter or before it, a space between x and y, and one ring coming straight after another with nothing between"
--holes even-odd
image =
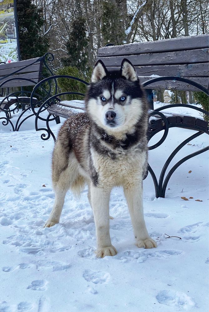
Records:
<instances>
[{"instance_id":1,"label":"black wrought iron frame of the bench directly behind the dog","mask_svg":"<svg viewBox=\"0 0 209 312\"><path fill-rule=\"evenodd\" d=\"M79 93L79 92L61 92L58 93L58 86L57 86L57 79L58 78L69 78L69 79L74 79L77 80L79 82L84 83L85 85L88 85L87 82L76 78L76 77L72 77L72 76L66 76L66 75L56 75L56 76L52 76L52 77L48 77L44 80L42 80L41 82L39 82L33 89L32 93L31 93L31 107L33 110L33 113L36 115L36 119L35 119L35 128L36 131L44 131L44 133L41 134L41 139L42 140L48 140L51 136L53 137L54 141L56 141L55 135L53 133L53 131L50 128L50 122L51 121L56 121L56 123L60 123L60 116L67 118L69 116L69 111L66 112L65 111L65 107L75 107L75 106L71 106L71 105L66 105L66 104L59 104L59 102L61 102L61 97L63 95L66 94L74 94L74 95L82 95L84 96L84 94ZM153 78L150 79L146 82L143 82L142 85L143 86L148 86L149 84L152 84L153 82L158 82L160 80L171 80L171 81L181 81L184 83L189 83L191 85L193 85L194 87L196 87L197 89L199 89L200 91L206 93L208 95L208 89L206 89L205 87L203 87L202 85L198 84L197 82L191 81L187 78L182 78L182 77L175 77L175 76L167 76L167 77L157 77L157 78ZM53 82L54 86L53 88L51 87L51 91L53 91L50 96L48 98L43 97L40 102L40 108L38 109L38 111L36 112L33 108L33 102L32 102L32 98L34 97L34 95L36 94L36 91L39 87L41 87L42 83L46 83L48 82L50 85L50 81ZM49 95L49 93L48 93ZM56 108L57 105L59 105L59 108ZM62 105L63 109L60 109L60 105ZM177 146L174 151L170 154L170 156L168 157L167 161L165 162L163 169L161 171L159 180L157 180L157 177L152 169L152 167L150 165L148 165L148 172L150 172L153 182L154 182L154 186L155 186L155 194L156 197L165 197L165 191L166 191L166 187L168 185L168 181L170 180L173 172L185 161L187 161L188 159L197 156L201 153L203 153L204 151L207 151L209 149L209 146L202 148L199 151L196 151L188 156L183 157L180 161L178 161L168 172L167 176L165 176L166 174L166 170L169 166L169 164L171 163L171 161L173 160L174 156L177 154L178 151L180 151L180 149L185 146L189 141L191 141L192 139L196 138L197 136L202 135L203 133L207 133L208 132L208 123L206 121L204 121L203 119L200 118L195 118L195 117L191 117L191 116L180 116L177 114L173 114L173 115L167 115L167 113L163 113L162 111L164 111L165 109L168 108L172 108L172 107L177 107L177 106L183 106L183 107L187 107L187 108L192 108L196 111L200 111L202 114L205 115L209 115L208 111L205 111L199 107L193 106L193 105L187 105L187 104L172 104L172 105L165 105L163 107L157 108L155 110L152 110L149 112L149 131L148 131L148 140L150 140L155 134L157 134L159 131L164 131L163 136L161 137L161 139L155 143L153 146L149 146L149 150L153 150L155 148L157 148L158 146L160 146L166 139L166 137L168 136L168 131L169 128L173 128L173 127L182 127L182 128L187 128L187 129L191 129L191 130L195 130L197 131L197 133L193 134L192 136L188 137L186 140L184 140L181 144L179 144L179 146ZM78 107L77 107L78 108ZM49 115L45 118L43 116L41 116L41 113L43 111L48 111ZM72 113L72 112L71 112ZM152 117L155 116L155 118L152 119ZM156 118L157 117L157 118ZM38 121L42 120L46 122L46 128L39 128L38 127ZM46 133L45 133L46 132ZM147 174L148 174L147 172ZM147 175L146 175L147 176Z\"/></svg>"}]
</instances>

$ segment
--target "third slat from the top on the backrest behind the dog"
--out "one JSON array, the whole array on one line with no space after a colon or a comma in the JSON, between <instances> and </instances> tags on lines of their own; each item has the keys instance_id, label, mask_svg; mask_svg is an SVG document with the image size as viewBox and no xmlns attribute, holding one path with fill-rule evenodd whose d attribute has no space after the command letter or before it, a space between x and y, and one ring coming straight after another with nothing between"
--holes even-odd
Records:
<instances>
[{"instance_id":1,"label":"third slat from the top on the backrest behind the dog","mask_svg":"<svg viewBox=\"0 0 209 312\"><path fill-rule=\"evenodd\" d=\"M108 70L119 69L119 67L107 67ZM207 77L209 76L208 63L181 64L181 65L153 65L135 66L138 76L178 76L178 77Z\"/></svg>"}]
</instances>

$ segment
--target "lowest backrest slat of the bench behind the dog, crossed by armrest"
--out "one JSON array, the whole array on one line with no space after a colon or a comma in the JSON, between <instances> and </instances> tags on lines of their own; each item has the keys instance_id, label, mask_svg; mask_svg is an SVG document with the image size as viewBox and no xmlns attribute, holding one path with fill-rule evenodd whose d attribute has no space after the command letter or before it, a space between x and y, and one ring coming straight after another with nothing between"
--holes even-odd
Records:
<instances>
[{"instance_id":1,"label":"lowest backrest slat of the bench behind the dog, crossed by armrest","mask_svg":"<svg viewBox=\"0 0 209 312\"><path fill-rule=\"evenodd\" d=\"M139 81L145 82L149 79L152 79L154 77L139 77ZM203 87L207 88L208 87L208 78L206 77L195 77L191 78L188 77L189 80L192 80L194 82L197 82L201 84ZM158 82L153 82L152 84L144 87L145 89L153 89L153 90L182 90L182 91L200 91L196 87L193 87L185 82L181 81L174 81L174 80L165 80L165 81L158 81Z\"/></svg>"}]
</instances>

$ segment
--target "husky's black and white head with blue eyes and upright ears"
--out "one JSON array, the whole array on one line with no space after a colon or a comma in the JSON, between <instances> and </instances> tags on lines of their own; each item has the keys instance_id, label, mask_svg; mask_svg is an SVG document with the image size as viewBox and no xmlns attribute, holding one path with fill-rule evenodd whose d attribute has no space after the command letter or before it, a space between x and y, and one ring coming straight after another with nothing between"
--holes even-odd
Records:
<instances>
[{"instance_id":1,"label":"husky's black and white head with blue eyes and upright ears","mask_svg":"<svg viewBox=\"0 0 209 312\"><path fill-rule=\"evenodd\" d=\"M143 91L133 65L122 61L118 71L108 72L95 64L86 95L86 110L93 121L109 133L127 132L143 114Z\"/></svg>"}]
</instances>

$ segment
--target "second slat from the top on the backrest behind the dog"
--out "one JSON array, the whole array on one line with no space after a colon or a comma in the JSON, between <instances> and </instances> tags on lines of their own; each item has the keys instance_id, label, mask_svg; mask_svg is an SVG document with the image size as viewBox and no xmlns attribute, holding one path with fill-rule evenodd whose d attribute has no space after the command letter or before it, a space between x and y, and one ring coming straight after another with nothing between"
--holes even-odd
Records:
<instances>
[{"instance_id":1,"label":"second slat from the top on the backrest behind the dog","mask_svg":"<svg viewBox=\"0 0 209 312\"><path fill-rule=\"evenodd\" d=\"M120 67L124 56L100 57L98 59L101 59L105 66ZM134 66L207 63L208 48L178 52L129 55L128 59Z\"/></svg>"}]
</instances>

